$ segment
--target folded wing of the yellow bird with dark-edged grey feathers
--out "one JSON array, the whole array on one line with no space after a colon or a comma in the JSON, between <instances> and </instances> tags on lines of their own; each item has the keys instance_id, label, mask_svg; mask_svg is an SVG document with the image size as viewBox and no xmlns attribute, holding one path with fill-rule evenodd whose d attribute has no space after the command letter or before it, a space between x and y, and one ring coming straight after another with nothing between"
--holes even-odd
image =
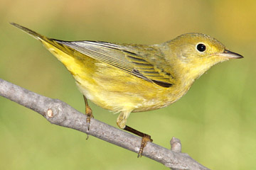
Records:
<instances>
[{"instance_id":1,"label":"folded wing of the yellow bird with dark-edged grey feathers","mask_svg":"<svg viewBox=\"0 0 256 170\"><path fill-rule=\"evenodd\" d=\"M114 67L117 67L122 71L132 74L136 77L146 81L154 82L159 86L169 87L172 85L170 77L166 74L163 74L163 70L154 67L153 64L146 61L145 56L152 54L138 54L137 51L139 51L139 49L134 49L136 46L133 46L133 50L131 50L125 45L116 45L109 42L62 40L53 41L62 45L66 45L95 60L105 62Z\"/></svg>"}]
</instances>

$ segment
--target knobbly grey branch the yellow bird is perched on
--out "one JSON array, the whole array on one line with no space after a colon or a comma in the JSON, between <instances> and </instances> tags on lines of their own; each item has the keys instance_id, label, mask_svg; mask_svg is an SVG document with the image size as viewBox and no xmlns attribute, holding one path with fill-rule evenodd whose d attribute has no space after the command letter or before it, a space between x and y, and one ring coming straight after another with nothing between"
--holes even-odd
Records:
<instances>
[{"instance_id":1,"label":"knobbly grey branch the yellow bird is perched on","mask_svg":"<svg viewBox=\"0 0 256 170\"><path fill-rule=\"evenodd\" d=\"M3 79L0 79L0 96L36 111L52 124L79 130L132 152L139 152L141 137L93 118L90 122L90 131L88 131L86 115L76 111L75 108L63 101L35 94ZM188 154L181 153L181 142L175 137L171 139L171 149L148 142L144 148L143 156L160 162L171 169L208 169L189 157ZM134 157L136 156L134 155Z\"/></svg>"}]
</instances>

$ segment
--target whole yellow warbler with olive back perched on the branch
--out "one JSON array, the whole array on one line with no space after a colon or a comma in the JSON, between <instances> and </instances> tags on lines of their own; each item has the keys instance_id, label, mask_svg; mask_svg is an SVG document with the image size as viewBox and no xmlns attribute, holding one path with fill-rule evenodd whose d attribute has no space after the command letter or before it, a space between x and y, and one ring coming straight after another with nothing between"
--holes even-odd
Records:
<instances>
[{"instance_id":1,"label":"whole yellow warbler with olive back perched on the branch","mask_svg":"<svg viewBox=\"0 0 256 170\"><path fill-rule=\"evenodd\" d=\"M86 98L120 113L119 128L142 136L138 157L152 140L126 125L129 113L169 106L214 64L242 58L201 33L183 34L157 45L136 45L55 40L11 24L40 40L73 75L85 98L88 127L92 111Z\"/></svg>"}]
</instances>

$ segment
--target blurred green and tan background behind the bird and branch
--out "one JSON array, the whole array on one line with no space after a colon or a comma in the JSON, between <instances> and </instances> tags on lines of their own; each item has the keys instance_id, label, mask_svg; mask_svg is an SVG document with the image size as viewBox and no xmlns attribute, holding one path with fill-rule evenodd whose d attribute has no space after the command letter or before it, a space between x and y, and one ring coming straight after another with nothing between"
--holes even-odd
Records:
<instances>
[{"instance_id":1,"label":"blurred green and tan background behind the bird and branch","mask_svg":"<svg viewBox=\"0 0 256 170\"><path fill-rule=\"evenodd\" d=\"M210 169L256 169L256 1L0 1L0 78L84 112L71 74L16 22L50 38L154 44L206 33L245 58L216 65L186 96L157 111L132 113L128 125ZM90 103L95 118L114 115ZM0 97L0 169L166 169L95 137L51 125Z\"/></svg>"}]
</instances>

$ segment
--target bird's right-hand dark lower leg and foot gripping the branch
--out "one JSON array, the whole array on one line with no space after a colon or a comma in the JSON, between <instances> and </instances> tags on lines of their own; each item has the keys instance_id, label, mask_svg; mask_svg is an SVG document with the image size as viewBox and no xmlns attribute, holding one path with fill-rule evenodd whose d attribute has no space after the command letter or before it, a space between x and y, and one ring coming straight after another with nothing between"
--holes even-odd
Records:
<instances>
[{"instance_id":1,"label":"bird's right-hand dark lower leg and foot gripping the branch","mask_svg":"<svg viewBox=\"0 0 256 170\"><path fill-rule=\"evenodd\" d=\"M135 135L138 135L138 136L142 137L142 145L139 148L138 158L142 157L143 149L144 149L144 147L146 147L146 143L147 142L153 142L153 140L151 139L151 136L147 135L146 133L139 132L138 130L135 130L134 128L131 128L127 125L124 127L124 130L127 130L128 132L132 132Z\"/></svg>"}]
</instances>

